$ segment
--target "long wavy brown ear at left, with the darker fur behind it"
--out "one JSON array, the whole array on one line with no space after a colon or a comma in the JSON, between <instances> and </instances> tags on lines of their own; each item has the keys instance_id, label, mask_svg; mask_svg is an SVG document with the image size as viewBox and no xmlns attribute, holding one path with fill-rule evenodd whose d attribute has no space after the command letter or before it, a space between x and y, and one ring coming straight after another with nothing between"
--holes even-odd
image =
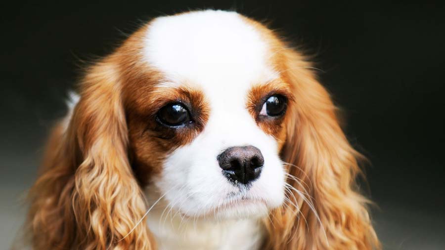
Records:
<instances>
[{"instance_id":1,"label":"long wavy brown ear at left, with the darker fur behind it","mask_svg":"<svg viewBox=\"0 0 445 250\"><path fill-rule=\"evenodd\" d=\"M34 249L154 249L127 157L121 86L111 60L92 67L67 128L56 126L30 192Z\"/></svg>"}]
</instances>

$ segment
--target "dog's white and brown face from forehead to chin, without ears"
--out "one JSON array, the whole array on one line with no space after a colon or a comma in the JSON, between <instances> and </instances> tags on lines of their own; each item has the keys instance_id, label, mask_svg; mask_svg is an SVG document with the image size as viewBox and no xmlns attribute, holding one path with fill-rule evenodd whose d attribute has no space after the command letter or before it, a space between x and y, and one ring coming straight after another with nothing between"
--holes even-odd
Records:
<instances>
[{"instance_id":1,"label":"dog's white and brown face from forehead to chin, without ears","mask_svg":"<svg viewBox=\"0 0 445 250\"><path fill-rule=\"evenodd\" d=\"M149 182L185 215L266 215L283 202L279 151L292 98L262 36L233 12L192 12L148 26L142 58L162 79L139 97L157 105L148 107L155 115L146 136L132 138L135 158L153 167L143 159L162 151Z\"/></svg>"}]
</instances>

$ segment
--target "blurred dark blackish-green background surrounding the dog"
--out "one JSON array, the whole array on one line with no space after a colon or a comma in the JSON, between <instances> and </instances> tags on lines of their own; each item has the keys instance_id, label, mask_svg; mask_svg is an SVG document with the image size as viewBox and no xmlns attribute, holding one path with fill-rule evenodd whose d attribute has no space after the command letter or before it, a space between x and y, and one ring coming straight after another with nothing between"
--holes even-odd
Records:
<instances>
[{"instance_id":1,"label":"blurred dark blackish-green background surrounding the dog","mask_svg":"<svg viewBox=\"0 0 445 250\"><path fill-rule=\"evenodd\" d=\"M224 3L225 2L225 3ZM142 21L188 9L236 9L271 21L315 55L371 161L368 196L384 249L445 249L445 8L438 2L102 1L1 3L0 249L20 230L48 129L85 61Z\"/></svg>"}]
</instances>

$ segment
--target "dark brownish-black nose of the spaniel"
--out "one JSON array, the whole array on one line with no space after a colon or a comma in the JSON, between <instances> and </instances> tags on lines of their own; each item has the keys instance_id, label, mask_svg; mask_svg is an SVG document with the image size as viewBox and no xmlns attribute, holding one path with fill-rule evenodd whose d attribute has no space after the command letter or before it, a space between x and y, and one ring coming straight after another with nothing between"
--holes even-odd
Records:
<instances>
[{"instance_id":1,"label":"dark brownish-black nose of the spaniel","mask_svg":"<svg viewBox=\"0 0 445 250\"><path fill-rule=\"evenodd\" d=\"M247 184L255 180L264 165L263 154L254 146L230 147L217 159L223 174L234 183Z\"/></svg>"}]
</instances>

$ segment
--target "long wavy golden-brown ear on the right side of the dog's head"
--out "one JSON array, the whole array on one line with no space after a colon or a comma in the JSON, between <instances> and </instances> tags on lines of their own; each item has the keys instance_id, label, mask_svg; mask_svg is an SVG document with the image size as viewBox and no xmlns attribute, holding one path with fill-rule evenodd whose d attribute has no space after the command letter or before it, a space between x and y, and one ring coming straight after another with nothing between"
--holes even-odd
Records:
<instances>
[{"instance_id":1,"label":"long wavy golden-brown ear on the right side of the dog's head","mask_svg":"<svg viewBox=\"0 0 445 250\"><path fill-rule=\"evenodd\" d=\"M295 51L282 56L283 78L295 96L282 149L288 199L270 215L267 249L379 249L368 201L356 191L361 155L348 143L336 108L309 70L311 65Z\"/></svg>"}]
</instances>

